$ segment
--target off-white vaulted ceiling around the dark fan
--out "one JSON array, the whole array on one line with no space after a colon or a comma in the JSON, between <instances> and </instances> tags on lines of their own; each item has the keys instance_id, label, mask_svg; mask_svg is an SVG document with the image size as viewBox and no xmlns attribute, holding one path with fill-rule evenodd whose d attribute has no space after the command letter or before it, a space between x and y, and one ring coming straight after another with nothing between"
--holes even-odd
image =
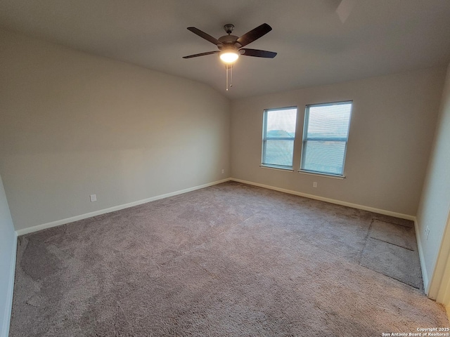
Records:
<instances>
[{"instance_id":1,"label":"off-white vaulted ceiling around the dark fan","mask_svg":"<svg viewBox=\"0 0 450 337\"><path fill-rule=\"evenodd\" d=\"M342 22L341 0L1 0L0 27L201 81L229 98L450 62L450 0L344 2ZM228 92L217 55L181 58L217 50L186 27L219 38L226 23L240 36L264 22L273 30L247 47L278 55L239 58Z\"/></svg>"}]
</instances>

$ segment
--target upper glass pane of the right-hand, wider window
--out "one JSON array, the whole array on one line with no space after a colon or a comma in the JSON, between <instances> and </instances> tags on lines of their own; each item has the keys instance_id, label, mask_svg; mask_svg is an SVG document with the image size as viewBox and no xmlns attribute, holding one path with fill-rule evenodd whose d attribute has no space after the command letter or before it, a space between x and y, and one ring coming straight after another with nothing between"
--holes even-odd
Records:
<instances>
[{"instance_id":1,"label":"upper glass pane of the right-hand, wider window","mask_svg":"<svg viewBox=\"0 0 450 337\"><path fill-rule=\"evenodd\" d=\"M352 103L309 107L307 138L347 138Z\"/></svg>"}]
</instances>

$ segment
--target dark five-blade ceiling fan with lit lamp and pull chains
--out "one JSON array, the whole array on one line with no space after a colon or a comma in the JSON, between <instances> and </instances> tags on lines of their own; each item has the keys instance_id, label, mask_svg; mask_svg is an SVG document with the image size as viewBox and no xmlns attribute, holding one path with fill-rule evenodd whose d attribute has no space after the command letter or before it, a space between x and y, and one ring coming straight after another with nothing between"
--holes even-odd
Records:
<instances>
[{"instance_id":1,"label":"dark five-blade ceiling fan with lit lamp and pull chains","mask_svg":"<svg viewBox=\"0 0 450 337\"><path fill-rule=\"evenodd\" d=\"M231 33L234 30L234 25L231 25L231 23L224 25L224 30L228 35L219 37L219 39L216 39L212 37L210 34L202 32L200 29L195 27L188 27L188 30L190 30L194 34L197 34L199 37L207 41L210 41L212 44L215 44L219 50L188 55L184 56L183 58L197 58L198 56L219 54L220 59L225 63L226 66L227 91L228 91L229 70L231 70L231 76L233 76L232 75L233 63L236 62L236 60L238 60L240 55L253 56L256 58L274 58L276 56L276 53L274 53L273 51L261 51L259 49L243 48L272 30L272 27L270 27L266 23L263 23L262 25L259 25L255 29L250 30L250 32L243 34L242 37L236 37L235 35L231 35ZM230 86L232 86L232 84Z\"/></svg>"}]
</instances>

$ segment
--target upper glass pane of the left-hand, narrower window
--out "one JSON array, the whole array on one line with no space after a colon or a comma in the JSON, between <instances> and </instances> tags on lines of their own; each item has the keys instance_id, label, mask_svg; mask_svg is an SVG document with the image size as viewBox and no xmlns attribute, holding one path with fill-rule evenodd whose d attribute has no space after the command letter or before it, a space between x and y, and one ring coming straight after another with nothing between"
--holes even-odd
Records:
<instances>
[{"instance_id":1,"label":"upper glass pane of the left-hand, narrower window","mask_svg":"<svg viewBox=\"0 0 450 337\"><path fill-rule=\"evenodd\" d=\"M297 109L267 110L266 137L295 138Z\"/></svg>"}]
</instances>

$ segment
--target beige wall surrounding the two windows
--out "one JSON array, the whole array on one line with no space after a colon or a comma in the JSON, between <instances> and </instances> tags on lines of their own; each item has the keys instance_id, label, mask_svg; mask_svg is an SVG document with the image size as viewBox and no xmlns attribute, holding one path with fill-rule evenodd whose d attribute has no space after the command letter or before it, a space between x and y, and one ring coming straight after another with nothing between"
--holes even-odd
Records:
<instances>
[{"instance_id":1,"label":"beige wall surrounding the two windows","mask_svg":"<svg viewBox=\"0 0 450 337\"><path fill-rule=\"evenodd\" d=\"M415 216L441 100L436 67L233 101L233 178ZM353 100L344 180L297 173L304 106ZM295 172L262 169L262 113L298 107ZM318 187L312 187L316 181Z\"/></svg>"}]
</instances>

